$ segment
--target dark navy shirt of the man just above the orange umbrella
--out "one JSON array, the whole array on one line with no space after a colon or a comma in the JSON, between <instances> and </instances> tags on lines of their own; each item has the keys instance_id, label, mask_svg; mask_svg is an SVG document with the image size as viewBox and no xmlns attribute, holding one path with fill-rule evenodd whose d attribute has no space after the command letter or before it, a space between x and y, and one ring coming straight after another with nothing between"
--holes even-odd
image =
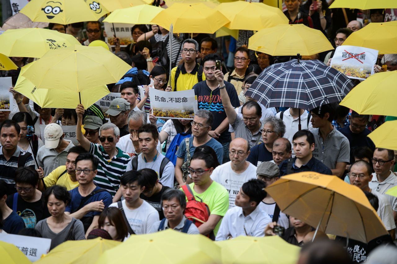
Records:
<instances>
[{"instance_id":1,"label":"dark navy shirt of the man just above the orange umbrella","mask_svg":"<svg viewBox=\"0 0 397 264\"><path fill-rule=\"evenodd\" d=\"M330 168L328 168L321 161L319 161L318 159L316 159L314 157L312 157L310 159L310 161L308 161L308 163L306 163L305 165L302 165L300 168L298 168L295 165L296 159L297 159L297 157L292 159L292 161L291 161L292 165L291 165L291 163L289 163L289 161L291 159L286 159L285 161L283 161L283 163L281 163L279 165L280 176L291 174L291 173L303 172L303 171L314 171L314 172L318 172L321 174L332 175ZM290 165L291 165L291 167L289 168Z\"/></svg>"}]
</instances>

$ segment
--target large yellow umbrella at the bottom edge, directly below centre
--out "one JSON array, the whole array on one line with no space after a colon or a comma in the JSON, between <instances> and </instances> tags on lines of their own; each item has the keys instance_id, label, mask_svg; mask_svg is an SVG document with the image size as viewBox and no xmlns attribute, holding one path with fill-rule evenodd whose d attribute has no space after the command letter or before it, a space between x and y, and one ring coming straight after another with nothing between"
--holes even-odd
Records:
<instances>
[{"instance_id":1,"label":"large yellow umbrella at the bottom edge, directly below centre","mask_svg":"<svg viewBox=\"0 0 397 264\"><path fill-rule=\"evenodd\" d=\"M189 245L189 246L188 246ZM97 264L207 264L221 263L220 247L203 235L188 235L172 229L132 235L121 245L106 251Z\"/></svg>"}]
</instances>

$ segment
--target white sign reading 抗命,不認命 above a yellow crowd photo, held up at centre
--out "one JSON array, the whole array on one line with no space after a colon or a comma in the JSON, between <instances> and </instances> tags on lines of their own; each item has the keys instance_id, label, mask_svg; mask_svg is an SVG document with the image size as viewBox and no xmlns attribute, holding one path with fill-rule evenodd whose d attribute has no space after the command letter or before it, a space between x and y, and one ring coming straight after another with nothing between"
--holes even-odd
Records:
<instances>
[{"instance_id":1,"label":"white sign reading \u6297\u547d,\u4e0d\u8a8d\u547d above a yellow crowd photo, held up at centre","mask_svg":"<svg viewBox=\"0 0 397 264\"><path fill-rule=\"evenodd\" d=\"M164 92L150 88L150 107L157 118L193 119L197 110L194 90Z\"/></svg>"}]
</instances>

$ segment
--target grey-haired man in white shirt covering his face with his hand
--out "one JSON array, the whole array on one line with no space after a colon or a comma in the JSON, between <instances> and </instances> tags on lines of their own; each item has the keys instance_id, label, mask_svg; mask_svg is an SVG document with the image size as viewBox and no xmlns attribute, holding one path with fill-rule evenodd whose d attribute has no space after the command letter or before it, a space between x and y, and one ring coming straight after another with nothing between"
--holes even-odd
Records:
<instances>
[{"instance_id":1,"label":"grey-haired man in white shirt covering his face with his hand","mask_svg":"<svg viewBox=\"0 0 397 264\"><path fill-rule=\"evenodd\" d=\"M138 139L138 129L148 123L148 116L143 111L131 111L128 115L128 134L122 136L116 147L127 153L130 157L138 156L141 153ZM157 143L157 150L161 153L160 140Z\"/></svg>"}]
</instances>

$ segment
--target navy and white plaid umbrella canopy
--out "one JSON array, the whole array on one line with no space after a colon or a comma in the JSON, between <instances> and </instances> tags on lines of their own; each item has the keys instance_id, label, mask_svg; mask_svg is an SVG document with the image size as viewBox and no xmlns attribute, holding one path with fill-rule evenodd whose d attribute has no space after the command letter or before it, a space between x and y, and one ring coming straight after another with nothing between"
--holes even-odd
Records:
<instances>
[{"instance_id":1,"label":"navy and white plaid umbrella canopy","mask_svg":"<svg viewBox=\"0 0 397 264\"><path fill-rule=\"evenodd\" d=\"M264 69L245 96L266 107L310 110L341 101L353 86L349 78L321 61L292 59Z\"/></svg>"}]
</instances>

